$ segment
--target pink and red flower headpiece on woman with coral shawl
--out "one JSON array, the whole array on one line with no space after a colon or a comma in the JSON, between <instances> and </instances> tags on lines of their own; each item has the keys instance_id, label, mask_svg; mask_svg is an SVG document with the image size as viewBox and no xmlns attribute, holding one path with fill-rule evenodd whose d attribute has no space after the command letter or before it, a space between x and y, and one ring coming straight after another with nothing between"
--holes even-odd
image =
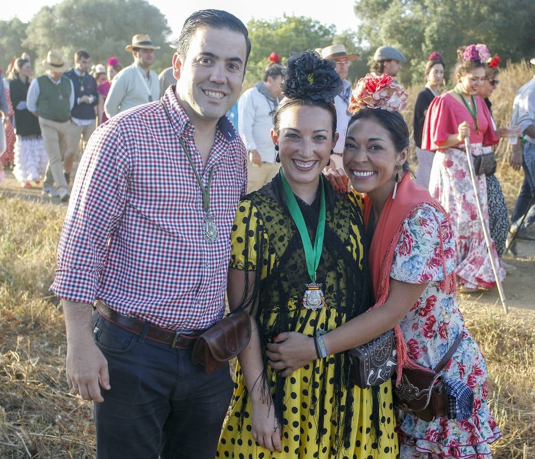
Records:
<instances>
[{"instance_id":1,"label":"pink and red flower headpiece on woman with coral shawl","mask_svg":"<svg viewBox=\"0 0 535 459\"><path fill-rule=\"evenodd\" d=\"M348 111L353 114L370 108L395 112L404 110L406 106L407 93L403 86L395 82L394 77L386 74L374 77L367 73L351 91Z\"/></svg>"}]
</instances>

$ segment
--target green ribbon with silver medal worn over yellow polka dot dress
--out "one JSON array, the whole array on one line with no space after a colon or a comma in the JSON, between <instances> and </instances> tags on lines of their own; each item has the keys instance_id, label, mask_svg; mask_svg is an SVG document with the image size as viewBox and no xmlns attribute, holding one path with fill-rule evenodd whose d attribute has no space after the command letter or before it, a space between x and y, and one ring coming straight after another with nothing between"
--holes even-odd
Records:
<instances>
[{"instance_id":1,"label":"green ribbon with silver medal worn over yellow polka dot dress","mask_svg":"<svg viewBox=\"0 0 535 459\"><path fill-rule=\"evenodd\" d=\"M286 197L288 211L290 212L295 226L297 226L297 231L299 231L301 236L304 256L307 260L307 271L311 280L310 284L305 284L307 290L305 290L303 294L303 306L307 309L315 311L317 309L321 309L324 304L327 305L323 297L322 284L317 284L316 282L316 270L318 269L319 259L322 257L323 236L325 234L325 189L323 180L321 178L319 179L322 186L322 195L319 201L319 216L316 239L314 241L314 248L312 248L312 242L310 241L307 225L304 223L303 214L301 213L299 204L297 204L297 200L295 199L292 189L284 177L284 173L282 173L282 169L280 170L280 178L282 180L282 189L284 190L284 195Z\"/></svg>"}]
</instances>

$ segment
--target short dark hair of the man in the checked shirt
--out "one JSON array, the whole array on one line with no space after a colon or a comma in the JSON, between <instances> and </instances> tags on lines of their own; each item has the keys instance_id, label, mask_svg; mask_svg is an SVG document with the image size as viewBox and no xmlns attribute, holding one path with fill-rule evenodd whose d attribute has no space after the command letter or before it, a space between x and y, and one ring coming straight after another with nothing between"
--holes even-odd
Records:
<instances>
[{"instance_id":1,"label":"short dark hair of the man in the checked shirt","mask_svg":"<svg viewBox=\"0 0 535 459\"><path fill-rule=\"evenodd\" d=\"M228 29L233 32L239 32L245 37L245 44L247 53L245 56L245 63L243 71L247 66L249 53L251 52L251 41L249 40L249 32L243 22L236 18L233 14L221 10L201 10L193 13L182 27L182 32L178 38L177 53L184 59L188 53L189 45L192 41L192 36L200 27L212 27L216 29Z\"/></svg>"}]
</instances>

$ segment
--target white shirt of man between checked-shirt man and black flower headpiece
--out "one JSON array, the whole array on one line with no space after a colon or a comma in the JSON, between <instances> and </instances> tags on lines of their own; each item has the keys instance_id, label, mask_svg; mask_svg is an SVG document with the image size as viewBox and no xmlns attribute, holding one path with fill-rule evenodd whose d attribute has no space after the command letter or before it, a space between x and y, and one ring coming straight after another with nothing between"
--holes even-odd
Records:
<instances>
[{"instance_id":1,"label":"white shirt of man between checked-shirt man and black flower headpiece","mask_svg":"<svg viewBox=\"0 0 535 459\"><path fill-rule=\"evenodd\" d=\"M239 132L247 150L256 150L264 163L274 163L277 152L271 140L275 103L256 87L245 91L238 100Z\"/></svg>"}]
</instances>

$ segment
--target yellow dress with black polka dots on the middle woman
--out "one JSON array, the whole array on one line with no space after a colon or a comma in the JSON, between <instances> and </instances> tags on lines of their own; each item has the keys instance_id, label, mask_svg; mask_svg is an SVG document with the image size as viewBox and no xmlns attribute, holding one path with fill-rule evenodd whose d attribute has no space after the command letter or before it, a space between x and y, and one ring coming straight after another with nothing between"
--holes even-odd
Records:
<instances>
[{"instance_id":1,"label":"yellow dress with black polka dots on the middle woman","mask_svg":"<svg viewBox=\"0 0 535 459\"><path fill-rule=\"evenodd\" d=\"M335 301L348 300L342 295L348 284L345 277L349 271L362 271L362 199L357 194L339 195L331 193L325 186L327 195L327 218L322 259L318 267L318 282L324 284L324 296L328 307L318 311L305 309L301 305L302 291L299 278L303 269L294 262L302 261L299 256L287 256L293 244L299 246L300 237L288 212L285 212L282 198L277 193L277 177L241 201L232 231L233 269L256 271L260 274L258 289L259 308L257 322L261 331L262 345L272 342L274 335L281 331L297 331L309 336L328 332L349 320L350 308L337 308ZM317 222L315 214L308 218L307 205L299 202L305 223ZM314 206L314 204L312 204ZM359 215L351 215L356 212ZM314 225L310 225L314 226ZM296 234L297 233L297 234ZM315 228L309 228L314 241ZM335 235L343 243L333 245ZM277 241L273 244L273 241ZM257 253L261 248L262 254ZM295 250L296 253L299 250ZM343 253L346 251L346 253ZM349 254L349 257L347 256ZM281 262L282 259L282 262ZM354 265L344 262L353 259ZM261 266L256 266L262 263ZM331 261L329 263L329 261ZM280 269L282 263L286 269ZM299 264L299 263L297 263ZM322 270L322 265L327 265ZM258 269L257 269L258 268ZM278 269L279 268L279 269ZM289 276L288 276L289 273ZM257 278L258 278L257 277ZM282 279L288 295L277 292L274 279ZM286 282L285 282L286 281ZM335 285L334 288L330 288ZM338 296L337 296L338 295ZM263 298L268 300L263 302ZM263 309L263 314L262 314ZM284 313L281 313L284 311ZM282 319L280 319L282 316ZM267 336L266 336L267 335ZM331 355L311 362L294 371L286 378L277 378L276 372L266 364L264 357L264 377L271 395L279 394L282 402L282 452L270 452L259 446L251 433L252 404L248 396L243 374L238 364L235 389L228 416L217 450L216 457L223 458L356 458L378 459L398 457L398 436L394 432L394 415L391 382L385 382L376 389L376 419L379 430L374 434L372 389L361 389L347 382L341 386L343 371L347 370L345 355ZM378 404L377 404L378 400ZM352 411L352 412L351 412ZM344 415L352 415L348 421L349 433L342 439ZM376 421L377 422L377 421ZM377 424L376 424L377 425Z\"/></svg>"}]
</instances>

